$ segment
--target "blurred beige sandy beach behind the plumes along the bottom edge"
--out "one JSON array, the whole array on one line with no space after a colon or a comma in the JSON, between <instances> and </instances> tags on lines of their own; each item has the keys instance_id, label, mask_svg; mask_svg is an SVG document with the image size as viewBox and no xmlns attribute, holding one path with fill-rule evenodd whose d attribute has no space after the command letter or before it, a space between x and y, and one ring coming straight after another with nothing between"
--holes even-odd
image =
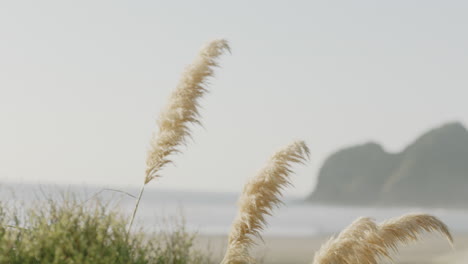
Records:
<instances>
[{"instance_id":1,"label":"blurred beige sandy beach behind the plumes along the bottom edge","mask_svg":"<svg viewBox=\"0 0 468 264\"><path fill-rule=\"evenodd\" d=\"M259 241L253 254L265 264L309 264L314 252L330 236L266 237ZM395 255L398 264L464 264L468 263L468 234L454 235L454 248L438 235L428 235L420 242L400 247ZM199 236L196 247L209 251L215 260L223 256L225 236ZM387 262L382 262L387 263Z\"/></svg>"}]
</instances>

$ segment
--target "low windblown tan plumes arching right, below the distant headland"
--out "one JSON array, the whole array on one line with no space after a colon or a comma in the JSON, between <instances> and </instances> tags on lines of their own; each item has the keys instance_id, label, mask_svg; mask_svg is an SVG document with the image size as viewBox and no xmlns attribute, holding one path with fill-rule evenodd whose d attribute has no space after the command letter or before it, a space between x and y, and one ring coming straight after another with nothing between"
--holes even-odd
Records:
<instances>
[{"instance_id":1,"label":"low windblown tan plumes arching right, below the distant headland","mask_svg":"<svg viewBox=\"0 0 468 264\"><path fill-rule=\"evenodd\" d=\"M407 214L379 225L362 218L351 224L337 238L326 242L315 254L314 264L377 264L380 259L392 259L398 244L420 238L423 232L439 232L452 243L447 226L434 216ZM342 235L345 234L345 235Z\"/></svg>"}]
</instances>

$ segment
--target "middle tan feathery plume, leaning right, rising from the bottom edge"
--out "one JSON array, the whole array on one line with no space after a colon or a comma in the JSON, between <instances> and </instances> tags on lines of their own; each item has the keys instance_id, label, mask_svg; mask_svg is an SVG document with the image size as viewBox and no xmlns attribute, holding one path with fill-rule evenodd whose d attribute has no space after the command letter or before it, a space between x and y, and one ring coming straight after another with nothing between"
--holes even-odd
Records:
<instances>
[{"instance_id":1,"label":"middle tan feathery plume, leaning right, rising from the bottom edge","mask_svg":"<svg viewBox=\"0 0 468 264\"><path fill-rule=\"evenodd\" d=\"M281 203L281 191L290 185L293 163L304 163L309 149L303 141L296 141L276 152L256 177L244 186L238 201L239 211L229 234L228 247L222 264L253 263L249 249L254 238L261 238L266 216Z\"/></svg>"}]
</instances>

